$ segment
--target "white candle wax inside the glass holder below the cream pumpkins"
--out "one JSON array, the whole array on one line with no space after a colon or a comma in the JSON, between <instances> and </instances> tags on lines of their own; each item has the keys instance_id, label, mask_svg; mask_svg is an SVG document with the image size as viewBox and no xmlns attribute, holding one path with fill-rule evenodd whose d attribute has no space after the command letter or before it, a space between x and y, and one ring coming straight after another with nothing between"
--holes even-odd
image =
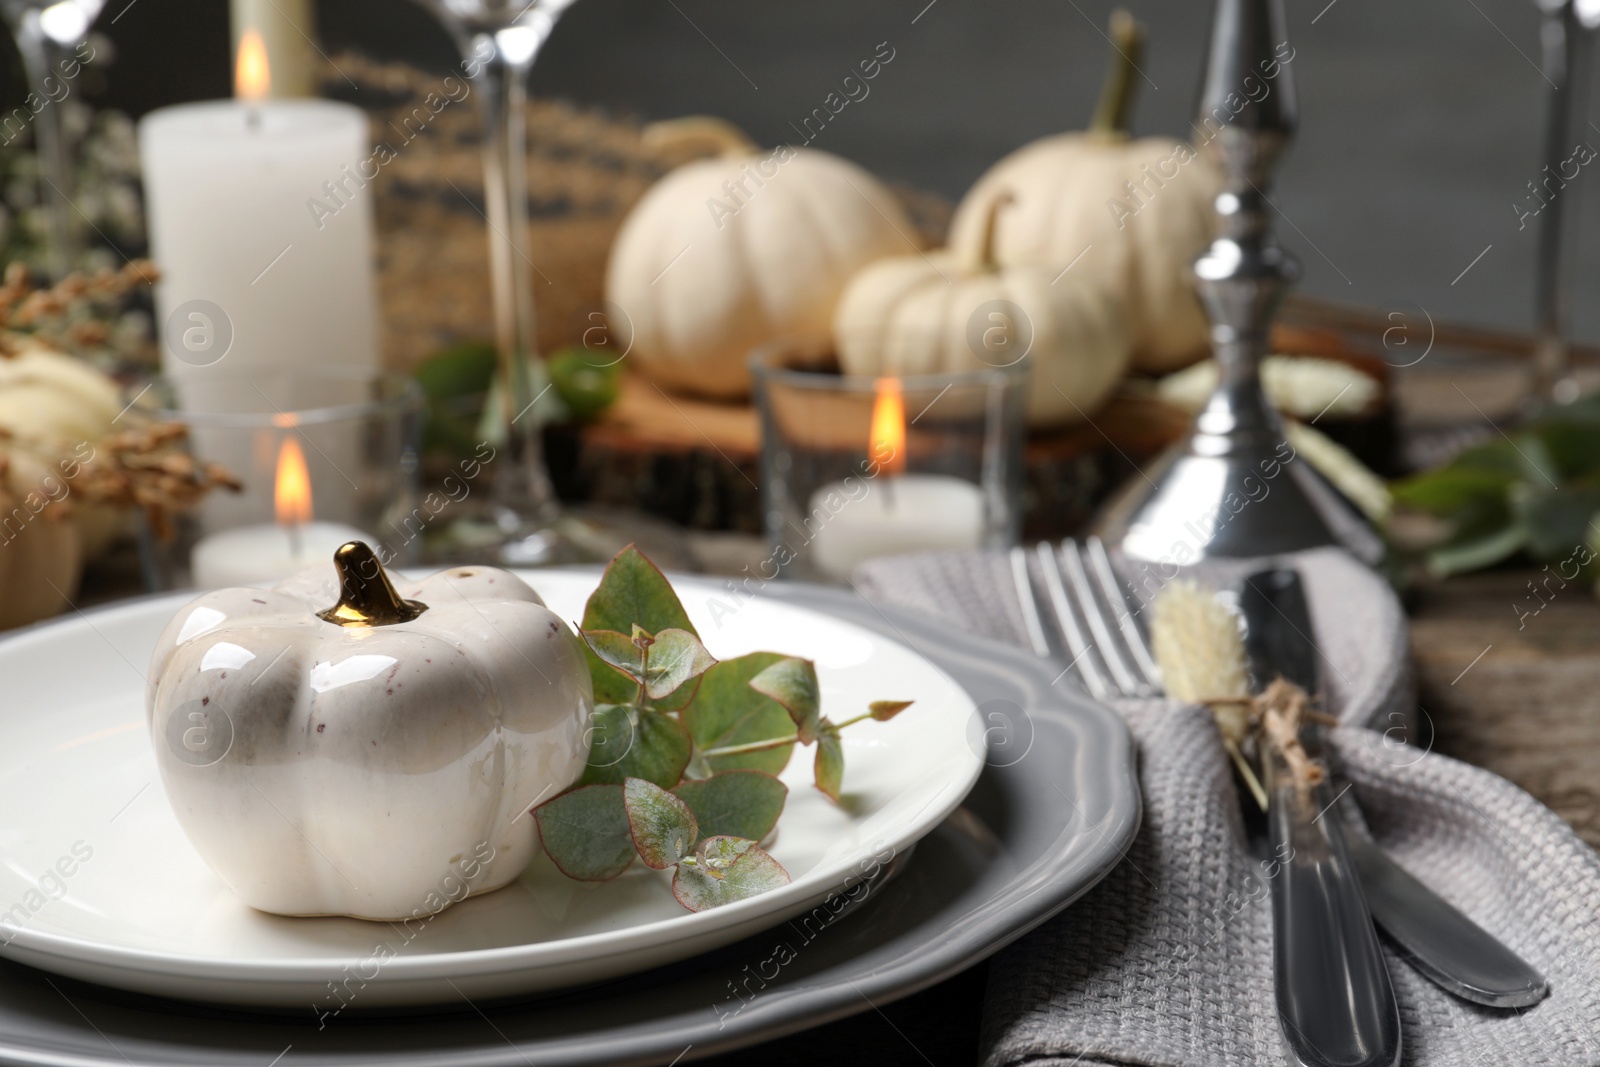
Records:
<instances>
[{"instance_id":1,"label":"white candle wax inside the glass holder below the cream pumpkins","mask_svg":"<svg viewBox=\"0 0 1600 1067\"><path fill-rule=\"evenodd\" d=\"M830 577L846 577L880 555L976 549L984 541L984 494L971 482L912 474L859 483L824 485L811 496L816 525L811 563Z\"/></svg>"}]
</instances>

